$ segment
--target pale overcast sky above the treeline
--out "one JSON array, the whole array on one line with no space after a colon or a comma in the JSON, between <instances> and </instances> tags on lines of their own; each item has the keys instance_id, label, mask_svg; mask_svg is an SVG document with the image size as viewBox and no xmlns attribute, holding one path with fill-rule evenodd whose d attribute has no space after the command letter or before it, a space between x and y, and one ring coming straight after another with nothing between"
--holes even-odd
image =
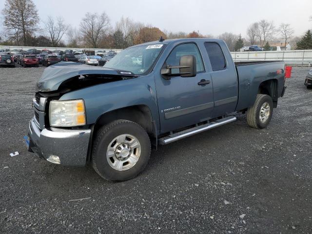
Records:
<instances>
[{"instance_id":1,"label":"pale overcast sky above the treeline","mask_svg":"<svg viewBox=\"0 0 312 234\"><path fill-rule=\"evenodd\" d=\"M219 35L246 34L249 24L266 19L290 23L296 36L312 28L312 0L34 0L41 20L62 16L79 26L86 12L105 11L114 26L121 16L167 31ZM0 9L4 0L0 0Z\"/></svg>"}]
</instances>

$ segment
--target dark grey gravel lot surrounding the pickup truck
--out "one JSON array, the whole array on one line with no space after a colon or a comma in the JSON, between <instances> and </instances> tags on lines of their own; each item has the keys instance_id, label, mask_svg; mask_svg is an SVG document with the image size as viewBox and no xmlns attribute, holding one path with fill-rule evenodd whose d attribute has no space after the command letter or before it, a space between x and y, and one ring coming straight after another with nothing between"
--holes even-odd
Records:
<instances>
[{"instance_id":1,"label":"dark grey gravel lot surrounding the pickup truck","mask_svg":"<svg viewBox=\"0 0 312 234\"><path fill-rule=\"evenodd\" d=\"M142 174L119 183L27 152L43 69L0 68L0 233L312 233L307 67L293 68L267 129L237 115L160 146Z\"/></svg>"}]
</instances>

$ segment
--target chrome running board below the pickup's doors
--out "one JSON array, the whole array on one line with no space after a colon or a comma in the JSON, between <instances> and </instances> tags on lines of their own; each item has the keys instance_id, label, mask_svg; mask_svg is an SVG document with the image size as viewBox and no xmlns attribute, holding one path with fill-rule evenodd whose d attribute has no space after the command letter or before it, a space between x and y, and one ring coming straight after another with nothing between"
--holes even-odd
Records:
<instances>
[{"instance_id":1,"label":"chrome running board below the pickup's doors","mask_svg":"<svg viewBox=\"0 0 312 234\"><path fill-rule=\"evenodd\" d=\"M201 132L207 131L209 129L219 127L221 125L234 122L235 120L236 120L236 117L233 117L233 116L221 118L221 119L215 120L215 121L210 122L210 123L206 123L206 124L196 126L194 128L190 128L190 129L187 129L187 130L175 133L175 134L171 134L171 135L166 136L166 137L159 138L158 142L160 145L167 145L167 144L174 142L174 141L177 141L179 139L182 139L185 137L190 137L190 136L193 136L197 133L201 133Z\"/></svg>"}]
</instances>

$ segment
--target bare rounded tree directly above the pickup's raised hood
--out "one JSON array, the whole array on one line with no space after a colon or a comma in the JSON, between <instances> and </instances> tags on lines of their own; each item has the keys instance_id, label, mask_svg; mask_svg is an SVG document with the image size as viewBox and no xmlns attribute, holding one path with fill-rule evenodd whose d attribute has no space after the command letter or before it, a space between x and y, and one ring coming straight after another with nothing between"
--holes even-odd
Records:
<instances>
[{"instance_id":1,"label":"bare rounded tree directly above the pickup's raised hood","mask_svg":"<svg viewBox=\"0 0 312 234\"><path fill-rule=\"evenodd\" d=\"M87 13L85 15L85 18L80 22L80 31L87 45L97 48L99 40L105 35L109 28L109 21L105 12L101 15L97 13Z\"/></svg>"}]
</instances>

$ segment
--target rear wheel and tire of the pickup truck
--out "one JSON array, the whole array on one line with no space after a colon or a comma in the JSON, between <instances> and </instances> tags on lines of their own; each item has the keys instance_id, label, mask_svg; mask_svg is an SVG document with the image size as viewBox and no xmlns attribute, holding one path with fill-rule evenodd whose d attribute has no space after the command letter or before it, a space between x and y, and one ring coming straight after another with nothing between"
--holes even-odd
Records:
<instances>
[{"instance_id":1,"label":"rear wheel and tire of the pickup truck","mask_svg":"<svg viewBox=\"0 0 312 234\"><path fill-rule=\"evenodd\" d=\"M260 111L262 111L262 114ZM254 101L254 105L247 110L247 123L252 128L266 128L270 123L272 114L272 98L269 95L258 94Z\"/></svg>"}]
</instances>

